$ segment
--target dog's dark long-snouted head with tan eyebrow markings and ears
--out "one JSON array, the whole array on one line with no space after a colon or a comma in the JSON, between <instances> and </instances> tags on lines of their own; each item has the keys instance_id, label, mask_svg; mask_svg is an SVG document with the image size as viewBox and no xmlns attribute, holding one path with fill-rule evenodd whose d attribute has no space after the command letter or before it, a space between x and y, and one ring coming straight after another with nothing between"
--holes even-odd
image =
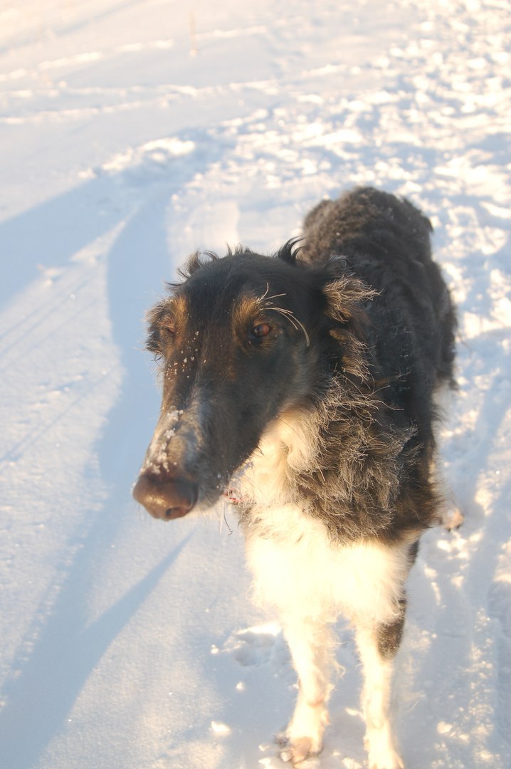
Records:
<instances>
[{"instance_id":1,"label":"dog's dark long-snouted head with tan eyebrow markings and ears","mask_svg":"<svg viewBox=\"0 0 511 769\"><path fill-rule=\"evenodd\" d=\"M155 518L214 504L268 424L307 408L350 358L368 292L340 271L301 264L292 243L277 257L195 255L150 312L163 397L134 498Z\"/></svg>"}]
</instances>

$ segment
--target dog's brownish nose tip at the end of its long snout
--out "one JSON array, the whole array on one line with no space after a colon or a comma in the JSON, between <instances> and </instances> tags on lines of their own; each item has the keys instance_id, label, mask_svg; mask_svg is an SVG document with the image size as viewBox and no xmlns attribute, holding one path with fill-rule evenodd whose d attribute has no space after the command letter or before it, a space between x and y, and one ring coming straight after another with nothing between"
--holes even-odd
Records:
<instances>
[{"instance_id":1,"label":"dog's brownish nose tip at the end of its long snout","mask_svg":"<svg viewBox=\"0 0 511 769\"><path fill-rule=\"evenodd\" d=\"M159 478L141 475L133 489L134 498L154 518L182 518L197 503L197 484L185 478Z\"/></svg>"}]
</instances>

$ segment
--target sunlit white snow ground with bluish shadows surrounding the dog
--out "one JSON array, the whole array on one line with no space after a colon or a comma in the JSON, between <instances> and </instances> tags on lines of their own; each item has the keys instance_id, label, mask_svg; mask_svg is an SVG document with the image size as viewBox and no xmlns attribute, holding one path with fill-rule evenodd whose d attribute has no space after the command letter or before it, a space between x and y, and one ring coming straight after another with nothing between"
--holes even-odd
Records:
<instances>
[{"instance_id":1,"label":"sunlit white snow ground with bluish shadows surrounding the dog","mask_svg":"<svg viewBox=\"0 0 511 769\"><path fill-rule=\"evenodd\" d=\"M131 501L159 409L141 319L189 252L274 251L356 184L430 215L460 317L466 521L410 579L403 754L511 765L510 35L506 0L2 4L2 767L284 766L294 673L235 516ZM339 632L315 769L365 765Z\"/></svg>"}]
</instances>

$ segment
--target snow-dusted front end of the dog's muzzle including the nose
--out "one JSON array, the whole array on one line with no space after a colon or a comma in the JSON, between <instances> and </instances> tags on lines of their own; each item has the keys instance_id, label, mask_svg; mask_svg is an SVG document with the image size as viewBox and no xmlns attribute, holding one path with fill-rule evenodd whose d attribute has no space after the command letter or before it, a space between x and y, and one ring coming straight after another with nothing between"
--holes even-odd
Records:
<instances>
[{"instance_id":1,"label":"snow-dusted front end of the dog's muzzle including the nose","mask_svg":"<svg viewBox=\"0 0 511 769\"><path fill-rule=\"evenodd\" d=\"M148 513L167 521L189 513L198 498L197 484L182 471L197 444L194 430L180 424L182 414L175 410L161 417L133 489Z\"/></svg>"}]
</instances>

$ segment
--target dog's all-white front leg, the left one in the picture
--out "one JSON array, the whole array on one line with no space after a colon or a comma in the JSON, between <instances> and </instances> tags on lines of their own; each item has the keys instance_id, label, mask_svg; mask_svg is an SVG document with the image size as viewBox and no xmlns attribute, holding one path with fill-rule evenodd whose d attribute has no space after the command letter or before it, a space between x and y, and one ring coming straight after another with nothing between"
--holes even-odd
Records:
<instances>
[{"instance_id":1,"label":"dog's all-white front leg, the left one in the picture","mask_svg":"<svg viewBox=\"0 0 511 769\"><path fill-rule=\"evenodd\" d=\"M310 618L284 619L284 635L298 674L299 691L280 755L295 765L318 754L323 745L334 642L330 626Z\"/></svg>"}]
</instances>

